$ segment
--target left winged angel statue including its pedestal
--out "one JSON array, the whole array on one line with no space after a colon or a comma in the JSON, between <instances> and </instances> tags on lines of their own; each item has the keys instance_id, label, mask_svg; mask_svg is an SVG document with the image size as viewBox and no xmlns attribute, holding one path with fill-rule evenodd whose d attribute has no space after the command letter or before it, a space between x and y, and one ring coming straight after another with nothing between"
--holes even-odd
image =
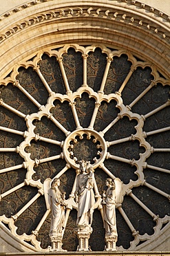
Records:
<instances>
[{"instance_id":1,"label":"left winged angel statue including its pedestal","mask_svg":"<svg viewBox=\"0 0 170 256\"><path fill-rule=\"evenodd\" d=\"M52 219L49 237L52 242L51 251L63 251L62 249L62 230L65 221L65 194L59 190L60 179L55 178L53 181L48 178L43 183L45 202L47 210L51 210Z\"/></svg>"}]
</instances>

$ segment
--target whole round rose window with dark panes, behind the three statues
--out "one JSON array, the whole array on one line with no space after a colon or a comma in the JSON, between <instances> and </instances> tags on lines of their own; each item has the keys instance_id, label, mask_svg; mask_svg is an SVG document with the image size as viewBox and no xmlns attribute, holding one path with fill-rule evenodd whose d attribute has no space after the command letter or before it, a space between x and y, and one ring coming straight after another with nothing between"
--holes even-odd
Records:
<instances>
[{"instance_id":1,"label":"whole round rose window with dark panes, behind the three statues","mask_svg":"<svg viewBox=\"0 0 170 256\"><path fill-rule=\"evenodd\" d=\"M47 250L43 181L59 177L67 199L63 246L76 250L78 158L94 167L100 193L107 177L123 181L118 250L136 250L169 225L169 84L155 66L102 45L45 48L14 66L1 98L0 219L12 235ZM99 206L92 250L104 250Z\"/></svg>"}]
</instances>

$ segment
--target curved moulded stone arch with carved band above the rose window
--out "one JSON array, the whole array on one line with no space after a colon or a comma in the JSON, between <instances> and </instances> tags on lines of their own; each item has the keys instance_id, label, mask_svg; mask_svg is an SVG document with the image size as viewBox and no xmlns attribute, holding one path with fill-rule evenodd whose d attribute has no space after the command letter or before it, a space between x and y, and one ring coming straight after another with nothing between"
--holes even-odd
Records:
<instances>
[{"instance_id":1,"label":"curved moulded stone arch with carved band above the rose window","mask_svg":"<svg viewBox=\"0 0 170 256\"><path fill-rule=\"evenodd\" d=\"M33 54L34 47L39 51L41 47L50 46L50 44L69 43L71 38L72 43L77 40L85 43L93 38L91 42L114 44L118 48L123 47L129 51L135 51L140 57L143 57L142 52L145 54L145 60L155 64L160 62L164 69L162 71L168 74L169 17L164 14L160 15L158 10L142 5L138 1L126 1L125 3L107 1L105 7L101 6L100 2L89 2L87 6L84 6L83 3L74 3L72 8L70 8L70 3L64 5L57 3L56 6L54 1L47 1L43 3L43 8L41 8L41 1L37 1L37 3L39 4L35 5L36 10L34 10L34 3L30 2L27 6L19 7L20 11L11 11L9 15L1 17L1 22L5 26L1 28L0 42L2 47L3 44L6 44L8 55L11 57L12 49L15 47L14 43L18 47L21 46L17 62L23 60L27 55ZM135 10L134 6L136 6ZM28 12L25 12L25 8ZM33 13L32 10L34 10ZM153 17L153 13L155 17ZM6 16L8 16L8 23L5 22ZM14 22L15 20L16 22ZM11 24L10 27L8 24ZM27 36L28 30L30 37ZM87 36L85 37L85 35ZM23 38L24 44L19 42L19 37ZM34 44L32 44L33 40L30 41L32 37L34 37ZM42 37L46 37L45 42L41 41ZM147 40L148 37L149 40ZM7 39L10 40L9 46ZM28 44L30 48L27 47ZM152 52L157 54L152 54ZM6 60L5 56L4 60ZM3 56L1 61L3 62ZM5 69L3 68L3 77L8 75L11 68L12 66L9 65Z\"/></svg>"}]
</instances>

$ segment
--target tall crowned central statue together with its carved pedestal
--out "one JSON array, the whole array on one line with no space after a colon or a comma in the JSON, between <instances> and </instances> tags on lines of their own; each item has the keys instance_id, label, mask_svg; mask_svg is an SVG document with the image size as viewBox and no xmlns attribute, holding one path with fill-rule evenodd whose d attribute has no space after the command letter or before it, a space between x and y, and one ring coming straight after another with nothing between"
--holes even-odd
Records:
<instances>
[{"instance_id":1,"label":"tall crowned central statue together with its carved pedestal","mask_svg":"<svg viewBox=\"0 0 170 256\"><path fill-rule=\"evenodd\" d=\"M89 162L80 161L80 173L76 177L75 198L77 203L77 219L74 232L78 237L79 251L89 251L89 237L92 234L92 220L94 212L94 169Z\"/></svg>"}]
</instances>

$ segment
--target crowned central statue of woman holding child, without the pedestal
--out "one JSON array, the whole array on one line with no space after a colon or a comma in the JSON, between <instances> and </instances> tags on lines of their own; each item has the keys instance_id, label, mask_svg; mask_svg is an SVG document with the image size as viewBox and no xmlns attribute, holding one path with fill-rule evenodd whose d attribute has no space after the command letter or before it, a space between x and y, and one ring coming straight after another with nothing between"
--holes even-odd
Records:
<instances>
[{"instance_id":1,"label":"crowned central statue of woman holding child, without the pedestal","mask_svg":"<svg viewBox=\"0 0 170 256\"><path fill-rule=\"evenodd\" d=\"M76 180L76 195L78 195L77 226L91 226L93 219L94 198L94 170L88 168L88 163L80 161L80 174Z\"/></svg>"}]
</instances>

